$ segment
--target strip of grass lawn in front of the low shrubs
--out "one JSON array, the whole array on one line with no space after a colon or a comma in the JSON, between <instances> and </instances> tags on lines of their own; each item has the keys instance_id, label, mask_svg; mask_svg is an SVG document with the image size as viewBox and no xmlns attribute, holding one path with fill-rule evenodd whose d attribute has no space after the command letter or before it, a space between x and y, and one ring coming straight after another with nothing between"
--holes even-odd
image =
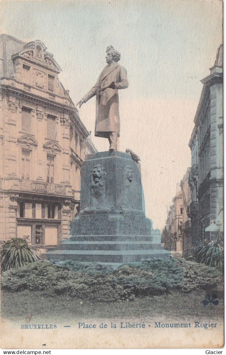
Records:
<instances>
[{"instance_id":1,"label":"strip of grass lawn in front of the low shrubs","mask_svg":"<svg viewBox=\"0 0 226 355\"><path fill-rule=\"evenodd\" d=\"M217 292L216 292L217 293ZM43 291L1 292L1 316L12 321L25 322L29 317L43 322L49 318L55 323L75 318L141 318L141 317L202 317L219 319L224 315L223 292L218 292L219 305L204 306L206 292L189 294L174 292L168 295L136 298L134 301L97 302L71 298L65 295L48 297Z\"/></svg>"}]
</instances>

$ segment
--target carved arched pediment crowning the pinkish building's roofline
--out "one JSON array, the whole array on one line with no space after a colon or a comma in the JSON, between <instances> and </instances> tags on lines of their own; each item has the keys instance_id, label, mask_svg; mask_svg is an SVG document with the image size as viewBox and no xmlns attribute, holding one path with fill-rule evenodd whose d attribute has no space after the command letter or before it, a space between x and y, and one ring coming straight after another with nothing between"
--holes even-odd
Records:
<instances>
[{"instance_id":1,"label":"carved arched pediment crowning the pinkish building's roofline","mask_svg":"<svg viewBox=\"0 0 226 355\"><path fill-rule=\"evenodd\" d=\"M12 55L12 59L17 57L25 58L29 61L35 62L41 66L45 66L48 69L54 70L57 73L61 72L60 66L53 59L53 55L49 52L46 52L47 47L40 40L35 40L24 45L23 49Z\"/></svg>"}]
</instances>

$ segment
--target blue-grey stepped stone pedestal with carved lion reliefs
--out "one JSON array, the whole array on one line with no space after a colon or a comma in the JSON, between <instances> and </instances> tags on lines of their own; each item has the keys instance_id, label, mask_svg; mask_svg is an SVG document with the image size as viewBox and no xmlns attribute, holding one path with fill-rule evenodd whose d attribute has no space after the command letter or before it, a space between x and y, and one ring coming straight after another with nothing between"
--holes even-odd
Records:
<instances>
[{"instance_id":1,"label":"blue-grey stepped stone pedestal with carved lion reliefs","mask_svg":"<svg viewBox=\"0 0 226 355\"><path fill-rule=\"evenodd\" d=\"M71 238L49 260L128 263L168 257L160 231L145 217L141 176L127 153L90 154L81 169L80 213L72 220Z\"/></svg>"}]
</instances>

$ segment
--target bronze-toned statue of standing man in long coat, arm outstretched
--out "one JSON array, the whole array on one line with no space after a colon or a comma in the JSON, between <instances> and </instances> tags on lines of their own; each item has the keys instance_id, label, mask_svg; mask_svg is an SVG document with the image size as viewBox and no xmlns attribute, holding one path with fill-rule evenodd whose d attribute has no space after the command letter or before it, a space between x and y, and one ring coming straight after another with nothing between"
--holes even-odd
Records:
<instances>
[{"instance_id":1,"label":"bronze-toned statue of standing man in long coat, arm outstretched","mask_svg":"<svg viewBox=\"0 0 226 355\"><path fill-rule=\"evenodd\" d=\"M108 138L110 151L117 150L117 140L120 133L118 89L128 87L127 73L118 64L120 53L107 47L107 66L99 76L96 85L77 103L79 108L96 95L95 136Z\"/></svg>"}]
</instances>

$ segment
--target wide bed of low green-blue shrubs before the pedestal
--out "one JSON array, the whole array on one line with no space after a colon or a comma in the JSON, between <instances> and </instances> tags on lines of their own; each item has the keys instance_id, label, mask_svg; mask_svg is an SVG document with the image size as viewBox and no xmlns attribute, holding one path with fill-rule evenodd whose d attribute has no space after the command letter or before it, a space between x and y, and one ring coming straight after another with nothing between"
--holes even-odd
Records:
<instances>
[{"instance_id":1,"label":"wide bed of low green-blue shrubs before the pedestal","mask_svg":"<svg viewBox=\"0 0 226 355\"><path fill-rule=\"evenodd\" d=\"M96 263L94 267L75 263L73 268L76 271L38 261L6 271L1 278L2 289L44 290L48 296L65 294L97 301L133 300L174 290L187 293L198 288L210 289L219 282L220 275L215 268L183 258L142 260L136 265L126 264L107 272ZM91 273L91 269L95 272Z\"/></svg>"}]
</instances>

